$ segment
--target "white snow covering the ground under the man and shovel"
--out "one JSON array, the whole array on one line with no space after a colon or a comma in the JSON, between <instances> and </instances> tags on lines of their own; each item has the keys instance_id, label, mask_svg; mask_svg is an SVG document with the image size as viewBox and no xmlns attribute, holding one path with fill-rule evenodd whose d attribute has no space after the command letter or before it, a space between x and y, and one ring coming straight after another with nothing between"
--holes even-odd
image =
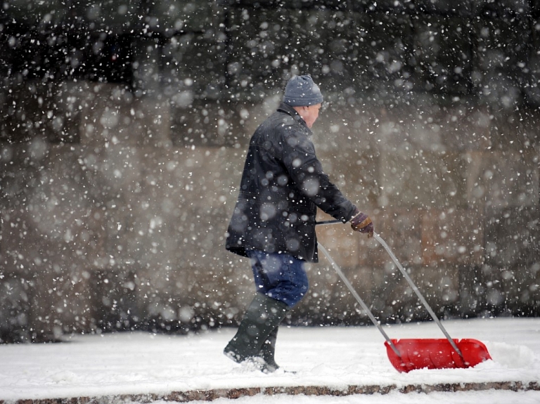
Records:
<instances>
[{"instance_id":1,"label":"white snow covering the ground under the man and shovel","mask_svg":"<svg viewBox=\"0 0 540 404\"><path fill-rule=\"evenodd\" d=\"M484 382L540 384L540 319L444 321L453 338L486 344L493 360L469 369L399 373L387 359L383 336L371 327L281 327L276 360L286 370L263 374L222 354L236 329L168 336L135 333L75 335L63 344L0 346L0 400L268 386L409 386ZM391 338L441 338L434 322L385 326ZM213 403L275 404L290 396L224 398ZM295 396L295 403L540 403L540 391L470 391L356 396ZM165 402L162 402L165 403ZM192 403L200 403L192 401Z\"/></svg>"}]
</instances>

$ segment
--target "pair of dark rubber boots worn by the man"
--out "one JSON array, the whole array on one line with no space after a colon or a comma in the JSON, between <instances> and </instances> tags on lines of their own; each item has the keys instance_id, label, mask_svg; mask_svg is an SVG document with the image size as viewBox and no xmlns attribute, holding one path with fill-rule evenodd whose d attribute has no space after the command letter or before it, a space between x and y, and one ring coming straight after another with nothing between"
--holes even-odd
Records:
<instances>
[{"instance_id":1,"label":"pair of dark rubber boots worn by the man","mask_svg":"<svg viewBox=\"0 0 540 404\"><path fill-rule=\"evenodd\" d=\"M236 363L252 360L256 365L259 364L258 367L263 372L273 371L271 370L273 366L267 366L266 360L262 357L262 347L264 342L269 339L270 334L285 318L288 310L289 307L283 302L257 293L248 306L236 335L225 347L225 355ZM272 344L269 344L269 348L267 353L270 355L271 350L275 348L275 338L274 348L272 348ZM272 357L273 360L273 356L274 354L271 353L268 358Z\"/></svg>"}]
</instances>

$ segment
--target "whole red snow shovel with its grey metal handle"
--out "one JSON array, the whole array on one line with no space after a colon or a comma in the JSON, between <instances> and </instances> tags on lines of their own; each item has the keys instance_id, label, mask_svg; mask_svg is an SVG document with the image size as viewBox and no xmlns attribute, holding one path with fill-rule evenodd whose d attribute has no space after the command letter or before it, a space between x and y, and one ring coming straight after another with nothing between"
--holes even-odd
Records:
<instances>
[{"instance_id":1,"label":"whole red snow shovel with its grey metal handle","mask_svg":"<svg viewBox=\"0 0 540 404\"><path fill-rule=\"evenodd\" d=\"M333 223L342 223L341 221L323 221L317 224L333 224ZM410 372L411 370L416 369L451 369L457 367L472 367L478 365L479 363L484 362L484 360L491 359L487 348L482 342L477 341L476 339L451 339L450 335L444 327L442 326L439 318L435 315L435 312L432 311L430 305L425 301L424 297L418 290L418 287L414 284L409 274L406 273L403 266L397 261L396 256L390 250L390 247L385 243L385 241L380 238L377 233L373 233L373 237L377 240L380 245L384 247L386 252L392 258L392 261L396 264L397 268L409 285L413 288L413 291L416 293L416 296L424 307L428 310L431 317L441 331L443 332L446 339L390 339L385 330L380 326L380 323L375 318L373 313L369 310L368 306L364 301L359 297L359 294L356 293L354 287L352 287L351 282L345 277L345 274L341 271L341 268L337 263L332 259L326 248L324 248L320 242L319 249L326 256L328 261L332 264L335 272L338 273L341 280L347 285L347 288L352 293L356 301L359 302L360 306L364 308L364 311L368 314L369 318L378 328L383 337L385 337L386 342L386 351L388 359L392 366L396 368L398 372Z\"/></svg>"}]
</instances>

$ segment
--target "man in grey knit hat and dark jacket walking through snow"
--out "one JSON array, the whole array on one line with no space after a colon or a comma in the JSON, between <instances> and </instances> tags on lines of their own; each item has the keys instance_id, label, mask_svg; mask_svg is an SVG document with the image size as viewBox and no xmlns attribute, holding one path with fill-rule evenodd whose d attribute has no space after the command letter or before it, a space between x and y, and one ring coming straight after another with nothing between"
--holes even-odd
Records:
<instances>
[{"instance_id":1,"label":"man in grey knit hat and dark jacket walking through snow","mask_svg":"<svg viewBox=\"0 0 540 404\"><path fill-rule=\"evenodd\" d=\"M283 103L253 134L226 249L248 256L257 293L225 347L226 356L274 372L278 326L307 293L304 262L317 262L319 207L353 230L373 223L324 174L311 142L323 95L309 75L290 79Z\"/></svg>"}]
</instances>

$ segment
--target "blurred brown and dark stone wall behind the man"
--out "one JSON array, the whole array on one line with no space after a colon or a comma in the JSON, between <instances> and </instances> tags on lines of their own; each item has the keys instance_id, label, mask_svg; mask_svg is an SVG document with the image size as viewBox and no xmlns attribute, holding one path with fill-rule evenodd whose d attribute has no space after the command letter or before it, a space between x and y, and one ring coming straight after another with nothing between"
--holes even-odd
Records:
<instances>
[{"instance_id":1,"label":"blurred brown and dark stone wall behind the man","mask_svg":"<svg viewBox=\"0 0 540 404\"><path fill-rule=\"evenodd\" d=\"M304 73L326 171L438 315L539 315L539 33L536 1L4 0L1 340L236 324L246 145ZM382 321L428 318L375 241L319 240ZM369 322L308 271L289 323Z\"/></svg>"}]
</instances>

